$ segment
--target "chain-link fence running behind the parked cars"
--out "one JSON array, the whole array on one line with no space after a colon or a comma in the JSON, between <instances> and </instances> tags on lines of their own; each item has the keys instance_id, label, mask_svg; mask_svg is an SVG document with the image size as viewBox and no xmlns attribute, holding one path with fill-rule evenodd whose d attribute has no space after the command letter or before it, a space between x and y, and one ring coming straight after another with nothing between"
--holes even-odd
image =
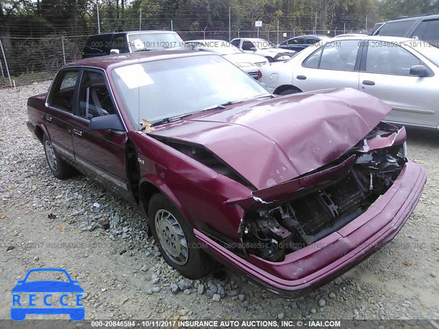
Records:
<instances>
[{"instance_id":1,"label":"chain-link fence running behind the parked cars","mask_svg":"<svg viewBox=\"0 0 439 329\"><path fill-rule=\"evenodd\" d=\"M178 31L177 31L178 32ZM346 31L353 32L352 30ZM344 33L336 30L234 30L234 31L180 31L183 40L233 38L265 38L274 44L281 43L287 38L303 34L324 34L334 36ZM60 67L66 63L82 58L82 50L87 35L56 36L46 38L1 38L3 52L0 53L1 86L22 86L35 81L50 80Z\"/></svg>"}]
</instances>

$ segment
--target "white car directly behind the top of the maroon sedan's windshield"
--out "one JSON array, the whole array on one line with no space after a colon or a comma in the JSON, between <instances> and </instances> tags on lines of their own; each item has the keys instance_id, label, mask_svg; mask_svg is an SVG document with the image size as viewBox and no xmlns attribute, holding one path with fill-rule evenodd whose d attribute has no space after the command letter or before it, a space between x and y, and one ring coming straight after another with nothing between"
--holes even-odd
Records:
<instances>
[{"instance_id":1,"label":"white car directly behind the top of the maroon sedan's windshield","mask_svg":"<svg viewBox=\"0 0 439 329\"><path fill-rule=\"evenodd\" d=\"M268 64L267 58L250 53L244 53L244 51L241 51L241 49L230 45L229 42L224 40L189 40L185 41L185 44L191 50L211 51L221 55L229 62L232 62L238 66L239 69L246 72L251 77L254 77L254 79L257 79L259 67Z\"/></svg>"}]
</instances>

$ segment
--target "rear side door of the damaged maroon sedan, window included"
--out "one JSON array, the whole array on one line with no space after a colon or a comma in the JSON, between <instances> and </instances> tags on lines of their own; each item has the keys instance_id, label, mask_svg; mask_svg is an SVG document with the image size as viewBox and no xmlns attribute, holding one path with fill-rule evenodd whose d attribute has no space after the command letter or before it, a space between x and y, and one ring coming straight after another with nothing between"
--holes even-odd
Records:
<instances>
[{"instance_id":1,"label":"rear side door of the damaged maroon sedan, window included","mask_svg":"<svg viewBox=\"0 0 439 329\"><path fill-rule=\"evenodd\" d=\"M73 160L71 119L80 69L64 69L58 73L47 97L44 125L56 151Z\"/></svg>"}]
</instances>

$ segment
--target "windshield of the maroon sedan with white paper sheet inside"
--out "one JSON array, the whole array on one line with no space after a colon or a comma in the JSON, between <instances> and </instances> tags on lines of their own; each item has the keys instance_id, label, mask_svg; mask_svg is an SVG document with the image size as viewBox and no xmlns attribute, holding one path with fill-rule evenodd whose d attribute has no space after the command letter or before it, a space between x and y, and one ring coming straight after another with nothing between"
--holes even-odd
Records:
<instances>
[{"instance_id":1,"label":"windshield of the maroon sedan with white paper sheet inside","mask_svg":"<svg viewBox=\"0 0 439 329\"><path fill-rule=\"evenodd\" d=\"M134 124L154 123L229 101L270 95L221 56L171 58L115 68L117 93Z\"/></svg>"}]
</instances>

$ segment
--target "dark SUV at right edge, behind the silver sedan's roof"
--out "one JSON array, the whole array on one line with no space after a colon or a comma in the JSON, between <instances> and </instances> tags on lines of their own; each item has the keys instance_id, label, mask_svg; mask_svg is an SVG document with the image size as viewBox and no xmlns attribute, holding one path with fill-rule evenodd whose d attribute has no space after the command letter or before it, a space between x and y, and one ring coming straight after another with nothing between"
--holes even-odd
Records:
<instances>
[{"instance_id":1,"label":"dark SUV at right edge, behind the silver sedan's roof","mask_svg":"<svg viewBox=\"0 0 439 329\"><path fill-rule=\"evenodd\" d=\"M439 14L394 19L383 24L375 36L403 36L439 46Z\"/></svg>"}]
</instances>

